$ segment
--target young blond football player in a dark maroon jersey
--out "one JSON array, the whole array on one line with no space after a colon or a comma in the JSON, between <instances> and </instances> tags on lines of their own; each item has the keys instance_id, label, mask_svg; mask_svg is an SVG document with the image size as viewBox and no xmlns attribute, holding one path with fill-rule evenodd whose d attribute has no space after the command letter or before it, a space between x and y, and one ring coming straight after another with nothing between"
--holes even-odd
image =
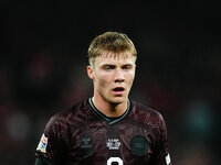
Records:
<instances>
[{"instance_id":1,"label":"young blond football player in a dark maroon jersey","mask_svg":"<svg viewBox=\"0 0 221 165\"><path fill-rule=\"evenodd\" d=\"M94 38L87 66L94 95L52 117L35 165L171 165L162 117L128 99L136 58L126 34Z\"/></svg>"}]
</instances>

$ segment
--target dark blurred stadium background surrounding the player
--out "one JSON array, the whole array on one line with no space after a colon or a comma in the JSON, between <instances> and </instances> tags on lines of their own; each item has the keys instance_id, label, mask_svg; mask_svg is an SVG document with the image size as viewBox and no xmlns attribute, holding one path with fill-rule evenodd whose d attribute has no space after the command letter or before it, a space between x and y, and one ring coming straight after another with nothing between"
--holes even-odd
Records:
<instances>
[{"instance_id":1,"label":"dark blurred stadium background surrounding the player","mask_svg":"<svg viewBox=\"0 0 221 165\"><path fill-rule=\"evenodd\" d=\"M130 99L160 111L176 165L220 165L221 12L213 1L1 1L0 164L31 165L45 123L92 96L90 42L128 34Z\"/></svg>"}]
</instances>

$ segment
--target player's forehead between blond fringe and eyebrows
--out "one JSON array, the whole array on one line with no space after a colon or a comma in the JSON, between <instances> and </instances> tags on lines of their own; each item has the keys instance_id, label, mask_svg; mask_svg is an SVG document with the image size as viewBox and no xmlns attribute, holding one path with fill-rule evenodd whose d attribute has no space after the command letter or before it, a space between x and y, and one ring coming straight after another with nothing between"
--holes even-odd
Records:
<instances>
[{"instance_id":1,"label":"player's forehead between blond fringe and eyebrows","mask_svg":"<svg viewBox=\"0 0 221 165\"><path fill-rule=\"evenodd\" d=\"M112 65L125 65L135 64L136 57L131 53L103 53L101 56L95 58L95 66L112 64Z\"/></svg>"}]
</instances>

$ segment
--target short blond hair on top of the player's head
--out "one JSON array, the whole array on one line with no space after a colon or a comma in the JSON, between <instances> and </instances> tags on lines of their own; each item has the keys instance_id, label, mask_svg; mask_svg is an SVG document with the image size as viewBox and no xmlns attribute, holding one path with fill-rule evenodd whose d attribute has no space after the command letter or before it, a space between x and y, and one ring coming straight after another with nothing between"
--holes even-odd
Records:
<instances>
[{"instance_id":1,"label":"short blond hair on top of the player's head","mask_svg":"<svg viewBox=\"0 0 221 165\"><path fill-rule=\"evenodd\" d=\"M104 52L114 53L115 55L128 52L135 58L137 57L137 51L131 40L126 34L119 32L105 32L92 41L88 47L90 65L94 66L95 58Z\"/></svg>"}]
</instances>

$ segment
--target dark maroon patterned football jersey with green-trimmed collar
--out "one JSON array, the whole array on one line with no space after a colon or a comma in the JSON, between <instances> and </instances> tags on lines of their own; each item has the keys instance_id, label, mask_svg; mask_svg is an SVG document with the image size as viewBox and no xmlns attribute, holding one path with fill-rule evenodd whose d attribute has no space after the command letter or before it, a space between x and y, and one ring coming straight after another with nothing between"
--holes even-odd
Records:
<instances>
[{"instance_id":1,"label":"dark maroon patterned football jersey with green-trimmed collar","mask_svg":"<svg viewBox=\"0 0 221 165\"><path fill-rule=\"evenodd\" d=\"M128 101L119 118L107 118L92 99L49 121L36 156L61 165L171 165L161 114Z\"/></svg>"}]
</instances>

